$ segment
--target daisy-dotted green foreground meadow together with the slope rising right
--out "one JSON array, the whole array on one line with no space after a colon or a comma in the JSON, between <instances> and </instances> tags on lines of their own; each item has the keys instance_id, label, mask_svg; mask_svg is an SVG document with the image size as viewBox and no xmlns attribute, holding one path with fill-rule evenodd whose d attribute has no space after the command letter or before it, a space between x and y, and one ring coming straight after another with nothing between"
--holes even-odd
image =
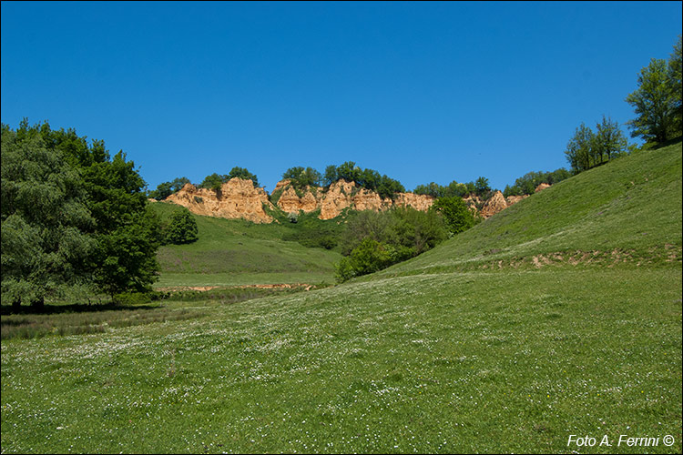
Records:
<instances>
[{"instance_id":1,"label":"daisy-dotted green foreground meadow together with the slope rising right","mask_svg":"<svg viewBox=\"0 0 683 455\"><path fill-rule=\"evenodd\" d=\"M681 297L678 143L340 286L3 340L2 451L680 453Z\"/></svg>"}]
</instances>

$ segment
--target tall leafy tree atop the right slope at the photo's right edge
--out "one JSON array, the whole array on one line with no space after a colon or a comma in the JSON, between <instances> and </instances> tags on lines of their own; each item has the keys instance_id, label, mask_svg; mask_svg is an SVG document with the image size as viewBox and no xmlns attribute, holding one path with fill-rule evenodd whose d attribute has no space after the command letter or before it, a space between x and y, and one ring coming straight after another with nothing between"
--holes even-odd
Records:
<instances>
[{"instance_id":1,"label":"tall leafy tree atop the right slope at the photo's right edge","mask_svg":"<svg viewBox=\"0 0 683 455\"><path fill-rule=\"evenodd\" d=\"M677 136L680 97L677 102L667 62L658 58L650 60L650 64L641 69L637 85L637 90L626 98L637 114L637 118L627 122L631 136L642 137L646 144L661 144Z\"/></svg>"}]
</instances>

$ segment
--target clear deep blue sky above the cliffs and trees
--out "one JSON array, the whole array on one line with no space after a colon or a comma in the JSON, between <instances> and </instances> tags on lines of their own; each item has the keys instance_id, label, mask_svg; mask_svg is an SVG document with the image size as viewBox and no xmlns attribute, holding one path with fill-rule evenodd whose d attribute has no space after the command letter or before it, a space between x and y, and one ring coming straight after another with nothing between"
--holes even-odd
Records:
<instances>
[{"instance_id":1,"label":"clear deep blue sky above the cliffs and trees","mask_svg":"<svg viewBox=\"0 0 683 455\"><path fill-rule=\"evenodd\" d=\"M2 122L103 139L150 189L355 161L408 189L567 167L681 2L2 2ZM625 128L626 131L626 128Z\"/></svg>"}]
</instances>

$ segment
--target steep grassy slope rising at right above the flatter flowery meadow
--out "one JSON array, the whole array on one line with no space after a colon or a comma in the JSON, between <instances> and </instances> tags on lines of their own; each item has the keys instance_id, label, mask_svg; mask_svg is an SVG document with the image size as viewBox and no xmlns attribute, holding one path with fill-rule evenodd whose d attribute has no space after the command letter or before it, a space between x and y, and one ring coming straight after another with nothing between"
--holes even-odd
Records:
<instances>
[{"instance_id":1,"label":"steep grassy slope rising at right above the flatter flowery meadow","mask_svg":"<svg viewBox=\"0 0 683 455\"><path fill-rule=\"evenodd\" d=\"M680 263L681 144L562 181L378 276L525 263ZM585 253L588 256L585 257Z\"/></svg>"}]
</instances>

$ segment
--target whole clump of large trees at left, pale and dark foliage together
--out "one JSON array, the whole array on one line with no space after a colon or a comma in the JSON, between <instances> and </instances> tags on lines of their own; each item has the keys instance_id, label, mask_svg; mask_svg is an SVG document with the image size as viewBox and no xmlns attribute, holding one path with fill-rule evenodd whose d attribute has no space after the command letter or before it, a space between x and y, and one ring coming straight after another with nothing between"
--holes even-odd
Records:
<instances>
[{"instance_id":1,"label":"whole clump of large trees at left, pale and dark foliage together","mask_svg":"<svg viewBox=\"0 0 683 455\"><path fill-rule=\"evenodd\" d=\"M2 126L2 293L41 305L65 288L115 295L156 279L158 218L120 151L73 129Z\"/></svg>"}]
</instances>

